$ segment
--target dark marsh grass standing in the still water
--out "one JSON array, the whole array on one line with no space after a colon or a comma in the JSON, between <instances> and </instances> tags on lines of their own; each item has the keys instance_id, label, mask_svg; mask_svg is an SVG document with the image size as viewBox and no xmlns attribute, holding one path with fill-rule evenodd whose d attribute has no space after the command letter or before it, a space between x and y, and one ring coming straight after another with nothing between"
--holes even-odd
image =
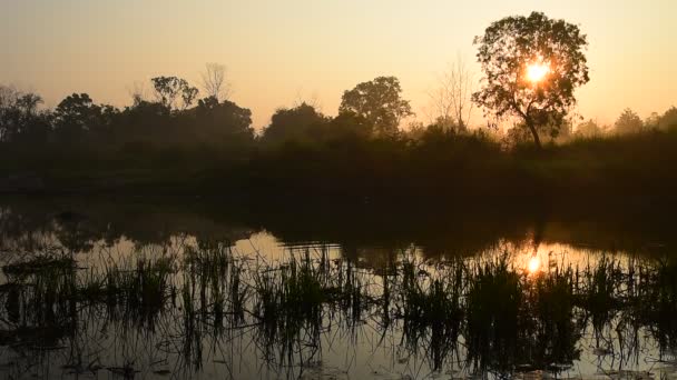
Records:
<instances>
[{"instance_id":1,"label":"dark marsh grass standing in the still water","mask_svg":"<svg viewBox=\"0 0 677 380\"><path fill-rule=\"evenodd\" d=\"M82 329L101 321L146 337L139 347L157 336L185 376L242 340L272 368L303 369L322 360L328 334L356 342L369 330L433 371L559 373L580 359L588 331L622 363L648 344L642 331L660 354L677 348L674 259L600 256L538 273L517 262L504 253L431 263L401 252L373 269L305 249L268 263L204 242L180 258L138 256L104 268L38 256L3 267L0 343L42 352L86 344ZM111 367L122 364L134 367Z\"/></svg>"}]
</instances>

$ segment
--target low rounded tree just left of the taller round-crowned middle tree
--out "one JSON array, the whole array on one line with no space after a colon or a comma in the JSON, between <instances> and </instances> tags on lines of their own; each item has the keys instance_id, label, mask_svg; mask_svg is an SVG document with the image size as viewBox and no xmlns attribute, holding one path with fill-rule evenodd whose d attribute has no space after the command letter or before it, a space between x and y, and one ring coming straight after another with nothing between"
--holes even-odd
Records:
<instances>
[{"instance_id":1,"label":"low rounded tree just left of the taller round-crowned middle tree","mask_svg":"<svg viewBox=\"0 0 677 380\"><path fill-rule=\"evenodd\" d=\"M328 119L313 106L305 102L297 107L278 109L271 119L271 124L263 131L262 140L266 143L279 143L287 140L322 139L323 127Z\"/></svg>"}]
</instances>

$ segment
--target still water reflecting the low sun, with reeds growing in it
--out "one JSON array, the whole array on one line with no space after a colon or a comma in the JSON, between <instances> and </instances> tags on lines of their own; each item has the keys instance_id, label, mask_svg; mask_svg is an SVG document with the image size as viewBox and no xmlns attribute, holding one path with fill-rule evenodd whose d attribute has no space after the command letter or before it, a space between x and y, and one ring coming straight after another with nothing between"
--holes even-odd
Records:
<instances>
[{"instance_id":1,"label":"still water reflecting the low sun, with reeds growing in it","mask_svg":"<svg viewBox=\"0 0 677 380\"><path fill-rule=\"evenodd\" d=\"M2 378L677 378L641 220L0 210Z\"/></svg>"}]
</instances>

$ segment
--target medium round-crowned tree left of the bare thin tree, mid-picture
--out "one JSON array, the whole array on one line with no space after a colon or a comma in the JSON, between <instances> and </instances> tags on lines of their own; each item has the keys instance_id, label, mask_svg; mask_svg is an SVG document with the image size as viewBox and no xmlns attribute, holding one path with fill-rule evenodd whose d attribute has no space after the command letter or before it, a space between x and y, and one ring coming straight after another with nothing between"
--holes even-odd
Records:
<instances>
[{"instance_id":1,"label":"medium round-crowned tree left of the bare thin tree, mid-picture","mask_svg":"<svg viewBox=\"0 0 677 380\"><path fill-rule=\"evenodd\" d=\"M412 116L395 77L379 77L345 91L338 113L353 113L366 120L380 136L394 136L402 118Z\"/></svg>"}]
</instances>

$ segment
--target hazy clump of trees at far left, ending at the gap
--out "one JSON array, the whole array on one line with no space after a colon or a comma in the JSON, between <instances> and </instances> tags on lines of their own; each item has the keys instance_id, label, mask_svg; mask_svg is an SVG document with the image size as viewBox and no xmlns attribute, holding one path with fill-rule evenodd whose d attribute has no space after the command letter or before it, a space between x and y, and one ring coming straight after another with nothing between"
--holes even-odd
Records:
<instances>
[{"instance_id":1,"label":"hazy clump of trees at far left, ending at the gap","mask_svg":"<svg viewBox=\"0 0 677 380\"><path fill-rule=\"evenodd\" d=\"M68 96L55 109L40 109L39 94L2 87L0 141L26 151L50 144L108 150L205 142L237 148L253 142L248 109L216 97L196 100L198 90L176 77L154 78L153 84L156 100L135 96L124 109L96 103L87 93Z\"/></svg>"}]
</instances>

